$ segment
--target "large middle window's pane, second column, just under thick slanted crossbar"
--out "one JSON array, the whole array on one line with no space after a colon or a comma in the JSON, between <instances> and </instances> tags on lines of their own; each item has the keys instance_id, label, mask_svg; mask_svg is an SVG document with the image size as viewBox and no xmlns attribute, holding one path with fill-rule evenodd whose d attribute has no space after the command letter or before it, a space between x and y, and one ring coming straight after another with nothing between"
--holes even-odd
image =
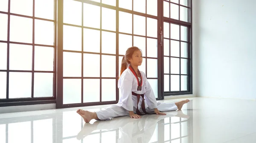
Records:
<instances>
[{"instance_id":1,"label":"large middle window's pane, second column, just under thick slanted crossbar","mask_svg":"<svg viewBox=\"0 0 256 143\"><path fill-rule=\"evenodd\" d=\"M84 3L84 26L100 28L100 7Z\"/></svg>"}]
</instances>

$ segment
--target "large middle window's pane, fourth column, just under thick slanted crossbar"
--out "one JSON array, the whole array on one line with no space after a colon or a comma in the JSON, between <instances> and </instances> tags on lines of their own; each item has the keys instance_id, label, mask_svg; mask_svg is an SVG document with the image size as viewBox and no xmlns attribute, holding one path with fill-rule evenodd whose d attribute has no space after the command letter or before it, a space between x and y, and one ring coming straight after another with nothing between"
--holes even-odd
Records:
<instances>
[{"instance_id":1,"label":"large middle window's pane, fourth column, just under thick slanted crossbar","mask_svg":"<svg viewBox=\"0 0 256 143\"><path fill-rule=\"evenodd\" d=\"M119 11L119 32L132 34L132 14Z\"/></svg>"}]
</instances>

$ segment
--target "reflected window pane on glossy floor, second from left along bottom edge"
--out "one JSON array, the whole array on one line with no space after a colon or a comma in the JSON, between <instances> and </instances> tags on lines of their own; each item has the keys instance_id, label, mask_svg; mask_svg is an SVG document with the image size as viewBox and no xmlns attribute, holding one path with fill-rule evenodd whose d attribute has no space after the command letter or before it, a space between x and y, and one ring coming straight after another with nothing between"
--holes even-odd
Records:
<instances>
[{"instance_id":1,"label":"reflected window pane on glossy floor, second from left along bottom edge","mask_svg":"<svg viewBox=\"0 0 256 143\"><path fill-rule=\"evenodd\" d=\"M8 124L8 143L31 143L31 122Z\"/></svg>"}]
</instances>

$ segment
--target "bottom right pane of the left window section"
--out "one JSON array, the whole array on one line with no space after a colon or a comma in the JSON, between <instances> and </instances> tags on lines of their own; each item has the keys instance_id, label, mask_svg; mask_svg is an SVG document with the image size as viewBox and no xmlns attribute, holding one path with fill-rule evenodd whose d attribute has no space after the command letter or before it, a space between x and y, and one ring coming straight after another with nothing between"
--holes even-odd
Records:
<instances>
[{"instance_id":1,"label":"bottom right pane of the left window section","mask_svg":"<svg viewBox=\"0 0 256 143\"><path fill-rule=\"evenodd\" d=\"M53 96L53 73L34 73L34 97Z\"/></svg>"}]
</instances>

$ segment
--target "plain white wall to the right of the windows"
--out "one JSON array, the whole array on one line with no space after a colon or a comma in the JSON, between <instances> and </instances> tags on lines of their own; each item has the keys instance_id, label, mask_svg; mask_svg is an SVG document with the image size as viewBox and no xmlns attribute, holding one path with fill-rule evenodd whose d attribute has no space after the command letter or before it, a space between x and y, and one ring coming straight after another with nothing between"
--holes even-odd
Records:
<instances>
[{"instance_id":1,"label":"plain white wall to the right of the windows","mask_svg":"<svg viewBox=\"0 0 256 143\"><path fill-rule=\"evenodd\" d=\"M197 95L256 99L256 0L193 2Z\"/></svg>"}]
</instances>

